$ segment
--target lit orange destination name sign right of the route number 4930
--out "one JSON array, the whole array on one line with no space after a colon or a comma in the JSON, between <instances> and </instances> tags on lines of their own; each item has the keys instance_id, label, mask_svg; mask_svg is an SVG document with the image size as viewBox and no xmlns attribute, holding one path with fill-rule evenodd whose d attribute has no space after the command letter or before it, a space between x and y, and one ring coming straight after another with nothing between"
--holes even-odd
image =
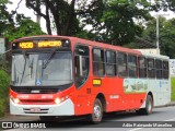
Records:
<instances>
[{"instance_id":1,"label":"lit orange destination name sign right of the route number 4930","mask_svg":"<svg viewBox=\"0 0 175 131\"><path fill-rule=\"evenodd\" d=\"M38 48L61 47L61 40L38 41Z\"/></svg>"}]
</instances>

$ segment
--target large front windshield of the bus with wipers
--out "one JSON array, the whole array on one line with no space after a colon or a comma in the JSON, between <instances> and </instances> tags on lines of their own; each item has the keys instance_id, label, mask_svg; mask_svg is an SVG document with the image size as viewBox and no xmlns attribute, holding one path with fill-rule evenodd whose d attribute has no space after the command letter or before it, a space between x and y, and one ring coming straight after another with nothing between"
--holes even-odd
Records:
<instances>
[{"instance_id":1,"label":"large front windshield of the bus with wipers","mask_svg":"<svg viewBox=\"0 0 175 131\"><path fill-rule=\"evenodd\" d=\"M71 52L14 53L13 86L56 86L72 83Z\"/></svg>"}]
</instances>

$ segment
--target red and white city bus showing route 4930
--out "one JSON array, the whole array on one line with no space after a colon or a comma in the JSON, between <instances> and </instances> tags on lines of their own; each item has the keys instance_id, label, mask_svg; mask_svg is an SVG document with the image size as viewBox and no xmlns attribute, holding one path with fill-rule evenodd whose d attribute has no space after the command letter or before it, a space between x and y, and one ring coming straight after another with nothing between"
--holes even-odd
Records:
<instances>
[{"instance_id":1,"label":"red and white city bus showing route 4930","mask_svg":"<svg viewBox=\"0 0 175 131\"><path fill-rule=\"evenodd\" d=\"M86 115L135 109L150 115L171 102L168 57L66 36L33 36L12 43L10 112Z\"/></svg>"}]
</instances>

